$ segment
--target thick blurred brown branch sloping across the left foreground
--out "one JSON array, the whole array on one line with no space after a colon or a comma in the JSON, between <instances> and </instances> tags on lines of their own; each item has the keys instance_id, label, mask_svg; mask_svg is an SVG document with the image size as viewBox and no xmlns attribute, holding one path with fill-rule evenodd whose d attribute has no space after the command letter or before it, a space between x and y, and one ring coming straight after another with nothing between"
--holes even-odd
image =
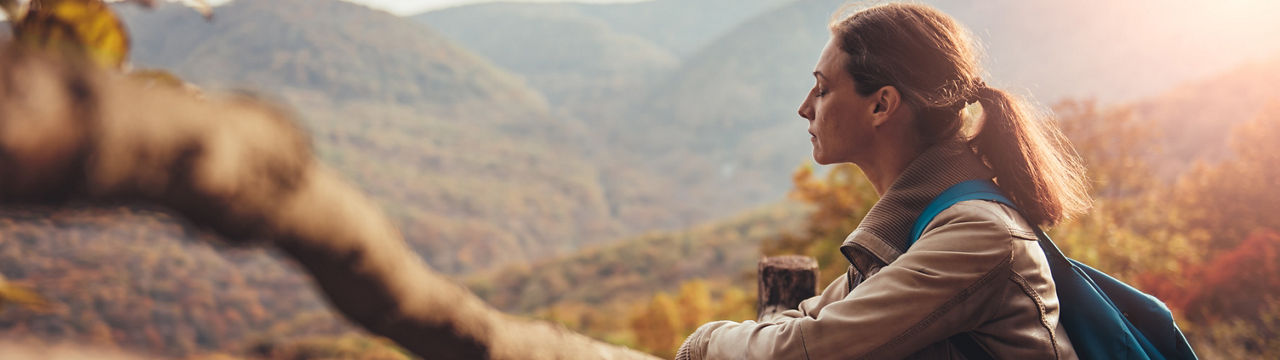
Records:
<instances>
[{"instance_id":1,"label":"thick blurred brown branch sloping across the left foreground","mask_svg":"<svg viewBox=\"0 0 1280 360\"><path fill-rule=\"evenodd\" d=\"M0 47L0 205L157 204L268 242L348 319L428 359L650 359L502 314L430 270L280 108Z\"/></svg>"}]
</instances>

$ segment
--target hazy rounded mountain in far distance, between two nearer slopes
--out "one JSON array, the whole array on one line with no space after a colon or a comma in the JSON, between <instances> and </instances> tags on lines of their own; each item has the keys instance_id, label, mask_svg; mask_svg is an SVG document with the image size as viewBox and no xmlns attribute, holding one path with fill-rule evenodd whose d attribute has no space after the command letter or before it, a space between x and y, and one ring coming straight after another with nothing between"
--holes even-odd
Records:
<instances>
[{"instance_id":1,"label":"hazy rounded mountain in far distance, between two nearer slopes","mask_svg":"<svg viewBox=\"0 0 1280 360\"><path fill-rule=\"evenodd\" d=\"M552 104L622 97L654 74L675 68L668 50L570 4L483 4L415 17L444 36L524 76ZM502 20L485 20L502 19Z\"/></svg>"}]
</instances>

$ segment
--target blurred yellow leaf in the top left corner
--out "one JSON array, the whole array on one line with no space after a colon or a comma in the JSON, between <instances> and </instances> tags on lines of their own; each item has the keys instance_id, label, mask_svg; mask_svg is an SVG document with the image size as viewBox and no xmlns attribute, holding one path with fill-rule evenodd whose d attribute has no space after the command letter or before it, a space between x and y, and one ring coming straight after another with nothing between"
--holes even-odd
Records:
<instances>
[{"instance_id":1,"label":"blurred yellow leaf in the top left corner","mask_svg":"<svg viewBox=\"0 0 1280 360\"><path fill-rule=\"evenodd\" d=\"M96 64L119 68L129 56L129 35L101 0L33 1L14 35L38 49L74 51Z\"/></svg>"}]
</instances>

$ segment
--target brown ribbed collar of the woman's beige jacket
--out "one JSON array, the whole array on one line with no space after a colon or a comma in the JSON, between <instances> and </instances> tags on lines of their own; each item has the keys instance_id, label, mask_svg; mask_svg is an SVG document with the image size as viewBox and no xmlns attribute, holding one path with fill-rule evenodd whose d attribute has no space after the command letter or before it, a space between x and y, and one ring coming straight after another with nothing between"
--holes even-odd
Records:
<instances>
[{"instance_id":1,"label":"brown ribbed collar of the woman's beige jacket","mask_svg":"<svg viewBox=\"0 0 1280 360\"><path fill-rule=\"evenodd\" d=\"M840 252L863 274L906 251L915 218L947 187L970 179L991 179L992 172L968 141L948 140L924 150L908 164L888 191L876 201Z\"/></svg>"}]
</instances>

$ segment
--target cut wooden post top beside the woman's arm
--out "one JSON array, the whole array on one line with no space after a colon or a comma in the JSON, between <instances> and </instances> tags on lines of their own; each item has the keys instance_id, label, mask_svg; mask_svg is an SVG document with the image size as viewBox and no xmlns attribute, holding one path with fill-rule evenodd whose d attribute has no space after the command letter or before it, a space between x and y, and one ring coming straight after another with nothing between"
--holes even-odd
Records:
<instances>
[{"instance_id":1,"label":"cut wooden post top beside the woman's arm","mask_svg":"<svg viewBox=\"0 0 1280 360\"><path fill-rule=\"evenodd\" d=\"M818 261L809 256L783 255L760 259L756 284L756 320L796 309L818 292Z\"/></svg>"}]
</instances>

